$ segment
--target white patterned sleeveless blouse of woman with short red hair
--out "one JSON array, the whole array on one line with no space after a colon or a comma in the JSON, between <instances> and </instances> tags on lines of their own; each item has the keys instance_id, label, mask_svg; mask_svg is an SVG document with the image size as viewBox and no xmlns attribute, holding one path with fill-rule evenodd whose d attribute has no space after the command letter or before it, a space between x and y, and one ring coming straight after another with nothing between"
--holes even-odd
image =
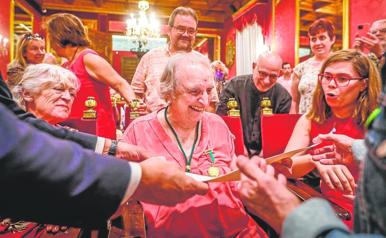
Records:
<instances>
[{"instance_id":1,"label":"white patterned sleeveless blouse of woman with short red hair","mask_svg":"<svg viewBox=\"0 0 386 238\"><path fill-rule=\"evenodd\" d=\"M304 114L311 110L312 96L318 83L319 71L311 64L310 59L301 62L293 68L293 72L300 79L298 86L300 93L299 114Z\"/></svg>"}]
</instances>

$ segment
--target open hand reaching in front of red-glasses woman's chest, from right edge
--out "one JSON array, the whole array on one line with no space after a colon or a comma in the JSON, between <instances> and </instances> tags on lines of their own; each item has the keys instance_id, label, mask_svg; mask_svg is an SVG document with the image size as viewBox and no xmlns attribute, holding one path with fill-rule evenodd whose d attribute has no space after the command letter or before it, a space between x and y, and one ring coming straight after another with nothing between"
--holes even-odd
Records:
<instances>
[{"instance_id":1,"label":"open hand reaching in front of red-glasses woman's chest, from right edge","mask_svg":"<svg viewBox=\"0 0 386 238\"><path fill-rule=\"evenodd\" d=\"M347 135L326 134L313 138L313 143L332 142L332 145L310 151L312 160L323 165L355 165L352 156L352 143L354 139Z\"/></svg>"}]
</instances>

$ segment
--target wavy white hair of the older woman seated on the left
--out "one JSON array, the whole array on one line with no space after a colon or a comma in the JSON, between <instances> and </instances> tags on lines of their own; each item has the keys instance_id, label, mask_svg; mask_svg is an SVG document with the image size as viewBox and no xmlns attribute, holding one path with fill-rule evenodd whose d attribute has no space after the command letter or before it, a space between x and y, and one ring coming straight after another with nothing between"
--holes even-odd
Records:
<instances>
[{"instance_id":1,"label":"wavy white hair of the older woman seated on the left","mask_svg":"<svg viewBox=\"0 0 386 238\"><path fill-rule=\"evenodd\" d=\"M38 95L52 84L61 84L63 88L71 87L75 93L80 89L80 81L75 74L54 64L30 64L15 86L10 86L14 100L21 108L26 109L22 89L31 95Z\"/></svg>"}]
</instances>

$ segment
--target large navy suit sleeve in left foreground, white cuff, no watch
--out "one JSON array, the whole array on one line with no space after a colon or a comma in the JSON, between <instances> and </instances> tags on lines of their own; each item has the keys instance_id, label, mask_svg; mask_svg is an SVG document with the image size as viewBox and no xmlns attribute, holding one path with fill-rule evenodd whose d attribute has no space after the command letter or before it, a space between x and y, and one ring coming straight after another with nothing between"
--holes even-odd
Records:
<instances>
[{"instance_id":1,"label":"large navy suit sleeve in left foreground, white cuff, no watch","mask_svg":"<svg viewBox=\"0 0 386 238\"><path fill-rule=\"evenodd\" d=\"M116 211L128 162L40 132L1 103L0 111L1 217L92 228Z\"/></svg>"}]
</instances>

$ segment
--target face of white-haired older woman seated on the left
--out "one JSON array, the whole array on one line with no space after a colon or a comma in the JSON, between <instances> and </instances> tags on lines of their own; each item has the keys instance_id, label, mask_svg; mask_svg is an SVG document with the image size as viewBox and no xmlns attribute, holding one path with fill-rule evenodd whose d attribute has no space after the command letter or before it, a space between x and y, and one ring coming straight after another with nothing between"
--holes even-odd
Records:
<instances>
[{"instance_id":1,"label":"face of white-haired older woman seated on the left","mask_svg":"<svg viewBox=\"0 0 386 238\"><path fill-rule=\"evenodd\" d=\"M71 113L75 89L69 86L63 88L60 83L52 84L37 95L23 96L27 109L37 118L51 125L66 120ZM30 101L32 98L32 101Z\"/></svg>"}]
</instances>

